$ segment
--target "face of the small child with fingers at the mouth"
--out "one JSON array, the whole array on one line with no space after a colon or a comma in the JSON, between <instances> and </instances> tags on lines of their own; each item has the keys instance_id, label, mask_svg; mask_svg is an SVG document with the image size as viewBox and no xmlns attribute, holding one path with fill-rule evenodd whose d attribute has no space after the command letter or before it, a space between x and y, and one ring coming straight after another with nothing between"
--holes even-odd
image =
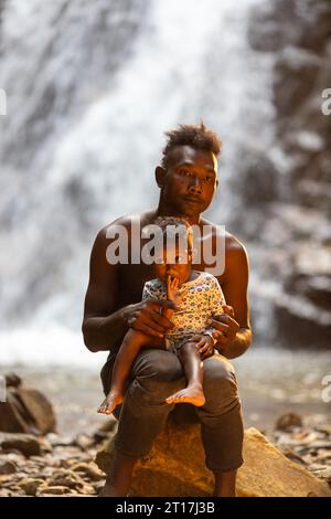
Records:
<instances>
[{"instance_id":1,"label":"face of the small child with fingers at the mouth","mask_svg":"<svg viewBox=\"0 0 331 519\"><path fill-rule=\"evenodd\" d=\"M189 279L192 262L190 252L180 250L177 244L172 247L163 247L163 257L158 260L162 263L156 263L154 271L163 283L167 283L168 276L178 278L179 285Z\"/></svg>"}]
</instances>

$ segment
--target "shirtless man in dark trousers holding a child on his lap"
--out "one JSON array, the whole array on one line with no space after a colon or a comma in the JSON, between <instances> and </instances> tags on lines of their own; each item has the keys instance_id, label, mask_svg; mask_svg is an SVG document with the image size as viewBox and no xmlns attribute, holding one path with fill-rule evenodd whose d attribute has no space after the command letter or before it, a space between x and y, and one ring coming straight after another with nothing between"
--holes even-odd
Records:
<instances>
[{"instance_id":1,"label":"shirtless man in dark trousers holding a child on his lap","mask_svg":"<svg viewBox=\"0 0 331 519\"><path fill-rule=\"evenodd\" d=\"M207 242L214 242L218 229L203 219L218 184L217 155L221 142L215 134L201 125L181 125L168 131L161 166L156 168L160 188L158 208L139 214L141 229L157 216L182 216L191 225L210 225L209 235L202 234L202 252ZM129 254L131 247L130 216L122 216L109 224L128 230ZM103 368L105 394L110 386L111 369L116 351L125 333L131 327L154 338L137 357L130 383L122 403L115 456L100 496L126 496L136 462L146 456L164 425L173 405L164 403L170 394L185 386L185 379L178 358L160 349L160 341L171 322L160 308L173 308L167 300L141 301L145 283L153 277L152 265L110 264L107 247L107 225L97 235L90 256L89 283L85 298L83 333L86 347L93 351L110 350ZM138 244L142 246L143 241ZM204 262L193 263L195 271L209 271ZM202 442L206 466L214 473L214 496L235 496L237 468L242 465L243 421L234 369L227 359L243 354L252 342L247 298L248 257L243 244L225 233L225 268L216 277L227 303L226 314L215 317L211 325L218 330L214 348L203 353L204 394L206 402L196 407L201 422ZM119 416L118 409L115 415ZM132 434L135 432L135 434Z\"/></svg>"}]
</instances>

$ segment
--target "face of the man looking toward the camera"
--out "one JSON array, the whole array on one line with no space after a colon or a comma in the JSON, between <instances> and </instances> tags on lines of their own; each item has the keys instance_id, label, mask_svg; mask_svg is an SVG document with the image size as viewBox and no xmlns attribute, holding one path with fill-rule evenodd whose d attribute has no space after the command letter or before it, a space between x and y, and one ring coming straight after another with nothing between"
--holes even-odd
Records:
<instances>
[{"instance_id":1,"label":"face of the man looking toward the camera","mask_svg":"<svg viewBox=\"0 0 331 519\"><path fill-rule=\"evenodd\" d=\"M217 183L214 153L191 146L177 146L170 151L162 178L162 198L180 214L194 216L205 211Z\"/></svg>"}]
</instances>

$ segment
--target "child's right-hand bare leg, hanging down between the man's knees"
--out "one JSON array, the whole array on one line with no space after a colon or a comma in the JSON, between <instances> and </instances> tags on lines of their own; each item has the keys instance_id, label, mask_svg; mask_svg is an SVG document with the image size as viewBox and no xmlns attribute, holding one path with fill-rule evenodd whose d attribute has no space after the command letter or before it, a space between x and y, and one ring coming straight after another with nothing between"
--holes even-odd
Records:
<instances>
[{"instance_id":1,"label":"child's right-hand bare leg, hanging down between the man's knees","mask_svg":"<svg viewBox=\"0 0 331 519\"><path fill-rule=\"evenodd\" d=\"M183 366L188 385L185 389L168 396L166 402L168 404L185 402L196 406L204 405L203 364L196 349L196 342L185 342L179 350L179 359Z\"/></svg>"}]
</instances>

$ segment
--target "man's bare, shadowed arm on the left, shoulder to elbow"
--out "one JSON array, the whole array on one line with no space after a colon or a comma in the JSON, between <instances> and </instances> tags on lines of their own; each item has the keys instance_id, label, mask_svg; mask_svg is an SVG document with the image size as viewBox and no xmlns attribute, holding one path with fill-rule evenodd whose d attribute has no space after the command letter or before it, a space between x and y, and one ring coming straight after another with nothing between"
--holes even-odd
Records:
<instances>
[{"instance_id":1,"label":"man's bare, shadowed arm on the left, shoulder to elbow","mask_svg":"<svg viewBox=\"0 0 331 519\"><path fill-rule=\"evenodd\" d=\"M107 262L110 241L103 229L93 245L89 263L89 282L85 296L82 331L85 346L90 351L116 348L125 336L128 308L117 309L119 265Z\"/></svg>"}]
</instances>

